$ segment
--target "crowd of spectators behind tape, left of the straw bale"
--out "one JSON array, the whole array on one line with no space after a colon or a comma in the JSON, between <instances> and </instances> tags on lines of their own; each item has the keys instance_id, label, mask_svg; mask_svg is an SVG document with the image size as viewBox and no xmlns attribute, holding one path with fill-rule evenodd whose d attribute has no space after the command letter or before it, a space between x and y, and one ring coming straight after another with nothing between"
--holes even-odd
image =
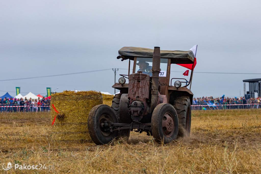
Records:
<instances>
[{"instance_id":1,"label":"crowd of spectators behind tape, left of the straw bale","mask_svg":"<svg viewBox=\"0 0 261 174\"><path fill-rule=\"evenodd\" d=\"M50 100L38 97L37 99L29 98L0 98L0 112L48 112L50 111ZM3 107L4 106L4 107ZM11 107L6 107L11 106Z\"/></svg>"}]
</instances>

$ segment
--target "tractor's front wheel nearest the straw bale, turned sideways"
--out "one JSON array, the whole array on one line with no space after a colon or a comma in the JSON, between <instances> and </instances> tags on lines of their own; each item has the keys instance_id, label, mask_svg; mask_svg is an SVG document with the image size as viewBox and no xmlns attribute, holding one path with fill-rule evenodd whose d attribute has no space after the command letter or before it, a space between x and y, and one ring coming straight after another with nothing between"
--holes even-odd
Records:
<instances>
[{"instance_id":1,"label":"tractor's front wheel nearest the straw bale, turned sideways","mask_svg":"<svg viewBox=\"0 0 261 174\"><path fill-rule=\"evenodd\" d=\"M112 108L108 105L94 106L88 115L88 132L97 145L108 144L118 136L118 131L111 132L112 125L106 121L118 123Z\"/></svg>"}]
</instances>

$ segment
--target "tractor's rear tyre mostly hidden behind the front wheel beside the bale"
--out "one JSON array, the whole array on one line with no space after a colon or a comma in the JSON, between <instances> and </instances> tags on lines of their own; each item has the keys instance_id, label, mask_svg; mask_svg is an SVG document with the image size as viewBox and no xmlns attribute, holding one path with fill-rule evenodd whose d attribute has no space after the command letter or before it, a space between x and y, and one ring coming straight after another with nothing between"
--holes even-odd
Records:
<instances>
[{"instance_id":1,"label":"tractor's rear tyre mostly hidden behind the front wheel beside the bale","mask_svg":"<svg viewBox=\"0 0 261 174\"><path fill-rule=\"evenodd\" d=\"M128 95L128 94L127 94ZM120 116L120 100L121 100L121 96L122 96L122 93L120 94L116 94L114 97L113 97L113 100L112 100L112 104L111 104L111 108L114 110L117 118L120 120L119 122L120 123L125 123L123 121L123 118L121 118ZM127 117L127 115L123 115L124 117ZM123 117L122 116L122 117ZM124 129L124 130L120 130L118 132L118 139L119 140L125 140L125 141L128 141L129 140L129 136L130 136L130 132L131 130L130 129Z\"/></svg>"}]
</instances>

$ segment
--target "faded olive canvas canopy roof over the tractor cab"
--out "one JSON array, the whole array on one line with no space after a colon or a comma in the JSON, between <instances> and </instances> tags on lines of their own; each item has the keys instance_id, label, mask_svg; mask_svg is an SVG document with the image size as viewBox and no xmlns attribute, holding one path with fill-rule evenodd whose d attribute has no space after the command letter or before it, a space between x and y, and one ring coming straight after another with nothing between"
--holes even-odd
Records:
<instances>
[{"instance_id":1,"label":"faded olive canvas canopy roof over the tractor cab","mask_svg":"<svg viewBox=\"0 0 261 174\"><path fill-rule=\"evenodd\" d=\"M134 57L152 57L153 49L149 48L140 48L140 47L122 47L119 50L119 55L117 59L122 58L123 60L134 60ZM161 58L170 58L171 63L193 63L194 54L192 51L170 51L170 50L161 50Z\"/></svg>"}]
</instances>

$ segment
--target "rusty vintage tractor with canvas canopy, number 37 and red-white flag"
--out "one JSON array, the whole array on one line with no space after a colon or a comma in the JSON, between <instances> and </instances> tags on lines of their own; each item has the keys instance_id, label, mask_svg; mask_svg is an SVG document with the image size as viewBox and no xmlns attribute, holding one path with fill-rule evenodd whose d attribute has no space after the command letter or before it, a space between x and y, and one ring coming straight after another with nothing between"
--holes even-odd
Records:
<instances>
[{"instance_id":1,"label":"rusty vintage tractor with canvas canopy, number 37 and red-white flag","mask_svg":"<svg viewBox=\"0 0 261 174\"><path fill-rule=\"evenodd\" d=\"M117 59L129 60L128 75L120 74L119 83L112 86L120 94L115 95L111 107L97 105L91 109L88 131L93 142L99 145L116 138L128 140L130 131L146 132L164 144L177 136L189 136L193 93L187 86L192 81L196 48L197 45L189 51L121 48ZM189 81L170 79L170 64L191 69ZM125 83L126 78L129 83Z\"/></svg>"}]
</instances>

